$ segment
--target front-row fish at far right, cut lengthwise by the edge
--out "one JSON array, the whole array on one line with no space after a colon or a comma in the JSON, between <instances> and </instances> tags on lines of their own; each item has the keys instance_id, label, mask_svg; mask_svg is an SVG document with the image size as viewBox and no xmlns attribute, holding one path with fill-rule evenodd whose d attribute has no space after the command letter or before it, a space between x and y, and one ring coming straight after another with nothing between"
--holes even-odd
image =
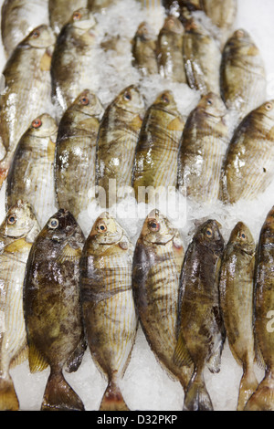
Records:
<instances>
[{"instance_id":1,"label":"front-row fish at far right, cut lengthwise by the edge","mask_svg":"<svg viewBox=\"0 0 274 429\"><path fill-rule=\"evenodd\" d=\"M255 268L255 338L265 377L245 411L274 411L274 206L262 225Z\"/></svg>"}]
</instances>

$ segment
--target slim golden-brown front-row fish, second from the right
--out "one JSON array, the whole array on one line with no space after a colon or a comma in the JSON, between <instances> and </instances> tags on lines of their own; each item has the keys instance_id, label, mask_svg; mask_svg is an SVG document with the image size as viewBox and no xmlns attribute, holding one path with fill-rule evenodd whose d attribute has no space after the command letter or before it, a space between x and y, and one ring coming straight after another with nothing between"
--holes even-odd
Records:
<instances>
[{"instance_id":1,"label":"slim golden-brown front-row fish, second from the right","mask_svg":"<svg viewBox=\"0 0 274 429\"><path fill-rule=\"evenodd\" d=\"M258 387L255 373L254 273L256 243L247 225L238 222L225 248L220 270L220 302L227 340L243 367L237 411L243 411Z\"/></svg>"}]
</instances>

